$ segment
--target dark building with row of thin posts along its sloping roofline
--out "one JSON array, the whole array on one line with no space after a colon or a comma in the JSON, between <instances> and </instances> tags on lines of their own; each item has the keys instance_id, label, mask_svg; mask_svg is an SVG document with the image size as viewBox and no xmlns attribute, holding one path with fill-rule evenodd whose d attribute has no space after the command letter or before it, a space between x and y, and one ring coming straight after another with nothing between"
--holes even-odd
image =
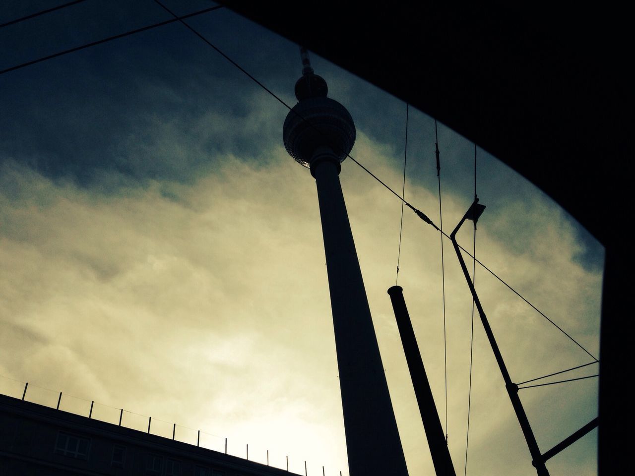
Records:
<instances>
[{"instance_id":1,"label":"dark building with row of thin posts along its sloping roofline","mask_svg":"<svg viewBox=\"0 0 635 476\"><path fill-rule=\"evenodd\" d=\"M288 476L253 461L0 395L0 476Z\"/></svg>"}]
</instances>

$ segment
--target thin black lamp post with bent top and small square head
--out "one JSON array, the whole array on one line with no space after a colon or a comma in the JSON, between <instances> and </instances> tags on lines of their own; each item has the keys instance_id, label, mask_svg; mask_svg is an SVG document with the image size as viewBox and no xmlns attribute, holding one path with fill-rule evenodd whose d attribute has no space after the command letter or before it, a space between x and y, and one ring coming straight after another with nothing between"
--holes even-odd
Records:
<instances>
[{"instance_id":1,"label":"thin black lamp post with bent top and small square head","mask_svg":"<svg viewBox=\"0 0 635 476\"><path fill-rule=\"evenodd\" d=\"M461 221L458 222L454 231L450 234L450 239L452 240L452 245L454 246L454 250L457 252L458 262L461 265L461 269L463 270L463 274L465 275L465 281L467 281L467 286L470 288L470 292L472 293L472 298L474 298L474 304L476 304L476 308L478 309L478 314L481 316L481 322L483 323L483 328L485 329L485 334L487 334L487 338L490 341L491 350L494 352L494 357L496 358L496 362L498 363L498 368L500 369L500 373L503 376L503 380L505 381L505 389L507 390L507 395L509 395L509 400L512 402L512 407L514 407L514 412L516 412L516 418L518 418L518 423L520 424L521 430L523 430L523 435L525 435L525 440L527 442L527 446L529 447L529 453L531 454L531 464L535 466L536 471L538 472L538 476L549 476L549 472L547 471L547 466L545 466L545 460L540 454L540 449L538 448L538 443L536 442L536 437L533 435L533 430L531 430L531 425L525 414L525 409L523 408L523 403L518 396L518 385L512 382L509 372L507 372L507 366L505 366L505 361L503 360L502 354L500 354L500 349L498 349L498 344L496 343L496 339L494 338L494 333L491 331L490 322L487 320L487 316L485 315L485 311L483 310L483 306L481 306L481 301L478 298L478 294L476 294L476 289L474 288L474 284L472 283L472 279L470 278L469 271L467 270L467 266L465 266L465 261L463 260L463 256L461 255L460 248L458 248L457 243L457 232L458 229L463 225L465 220L474 220L476 226L476 220L478 220L478 215L482 213L483 207L482 205L478 205L478 198L474 199L474 203L472 206L465 212Z\"/></svg>"}]
</instances>

